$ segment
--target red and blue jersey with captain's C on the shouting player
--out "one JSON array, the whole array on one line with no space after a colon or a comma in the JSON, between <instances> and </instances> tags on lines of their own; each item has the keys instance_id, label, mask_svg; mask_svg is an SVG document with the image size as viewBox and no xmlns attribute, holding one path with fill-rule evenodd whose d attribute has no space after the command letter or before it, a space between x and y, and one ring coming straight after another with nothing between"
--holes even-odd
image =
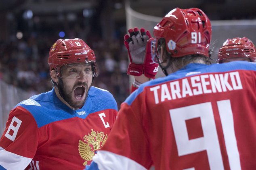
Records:
<instances>
[{"instance_id":1,"label":"red and blue jersey with captain's C on the shouting player","mask_svg":"<svg viewBox=\"0 0 256 170\"><path fill-rule=\"evenodd\" d=\"M82 170L104 145L117 114L108 91L91 87L72 110L54 89L11 110L0 140L0 169Z\"/></svg>"}]
</instances>

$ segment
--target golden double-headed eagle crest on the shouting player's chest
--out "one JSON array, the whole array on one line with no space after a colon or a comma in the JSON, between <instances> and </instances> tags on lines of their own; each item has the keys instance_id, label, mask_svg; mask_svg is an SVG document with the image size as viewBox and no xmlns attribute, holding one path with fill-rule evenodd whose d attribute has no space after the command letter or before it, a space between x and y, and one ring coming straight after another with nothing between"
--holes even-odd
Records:
<instances>
[{"instance_id":1,"label":"golden double-headed eagle crest on the shouting player's chest","mask_svg":"<svg viewBox=\"0 0 256 170\"><path fill-rule=\"evenodd\" d=\"M97 150L99 150L107 140L107 134L104 135L103 132L93 131L91 134L84 136L84 141L79 140L79 153L81 158L85 160L84 165L87 165L87 161L92 160L92 157L95 155Z\"/></svg>"}]
</instances>

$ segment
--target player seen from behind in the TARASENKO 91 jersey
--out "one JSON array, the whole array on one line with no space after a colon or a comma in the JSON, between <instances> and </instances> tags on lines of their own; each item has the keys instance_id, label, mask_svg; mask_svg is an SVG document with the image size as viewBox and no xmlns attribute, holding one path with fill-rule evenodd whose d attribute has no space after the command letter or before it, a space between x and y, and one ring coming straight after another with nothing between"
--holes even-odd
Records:
<instances>
[{"instance_id":1,"label":"player seen from behind in the TARASENKO 91 jersey","mask_svg":"<svg viewBox=\"0 0 256 170\"><path fill-rule=\"evenodd\" d=\"M170 11L154 36L166 77L126 99L89 169L254 169L256 64L211 65L211 24L198 8Z\"/></svg>"}]
</instances>

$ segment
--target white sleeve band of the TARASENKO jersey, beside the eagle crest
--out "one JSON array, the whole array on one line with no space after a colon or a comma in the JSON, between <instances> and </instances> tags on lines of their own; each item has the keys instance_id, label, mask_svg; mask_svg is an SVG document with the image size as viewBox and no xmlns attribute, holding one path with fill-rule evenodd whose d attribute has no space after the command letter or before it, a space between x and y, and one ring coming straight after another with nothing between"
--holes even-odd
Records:
<instances>
[{"instance_id":1,"label":"white sleeve band of the TARASENKO jersey, beside the eagle crest","mask_svg":"<svg viewBox=\"0 0 256 170\"><path fill-rule=\"evenodd\" d=\"M109 151L98 151L92 160L100 170L147 170L134 160Z\"/></svg>"}]
</instances>

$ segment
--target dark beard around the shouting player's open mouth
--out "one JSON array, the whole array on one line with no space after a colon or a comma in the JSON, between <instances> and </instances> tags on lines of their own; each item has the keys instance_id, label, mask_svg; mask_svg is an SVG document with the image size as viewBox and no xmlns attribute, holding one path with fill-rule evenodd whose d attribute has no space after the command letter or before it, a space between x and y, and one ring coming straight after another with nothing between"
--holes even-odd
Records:
<instances>
[{"instance_id":1,"label":"dark beard around the shouting player's open mouth","mask_svg":"<svg viewBox=\"0 0 256 170\"><path fill-rule=\"evenodd\" d=\"M84 100L81 100L81 101L72 100L72 95L73 95L72 92L75 90L75 87L78 87L78 86L85 87L85 91L84 91L85 97L84 97ZM88 84L86 82L83 82L83 83L78 82L75 85L73 85L72 88L70 88L63 83L63 79L59 79L59 83L58 83L58 89L61 97L69 104L69 106L73 107L74 109L79 109L84 106L90 87L88 87Z\"/></svg>"}]
</instances>

